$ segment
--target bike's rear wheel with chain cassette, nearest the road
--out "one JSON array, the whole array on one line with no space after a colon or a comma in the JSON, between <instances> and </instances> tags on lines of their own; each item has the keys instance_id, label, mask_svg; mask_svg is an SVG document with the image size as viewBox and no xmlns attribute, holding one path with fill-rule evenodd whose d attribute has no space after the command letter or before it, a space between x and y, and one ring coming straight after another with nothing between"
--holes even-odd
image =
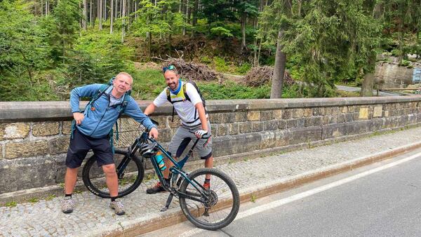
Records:
<instances>
[{"instance_id":1,"label":"bike's rear wheel with chain cassette, nearest the road","mask_svg":"<svg viewBox=\"0 0 421 237\"><path fill-rule=\"evenodd\" d=\"M208 189L203 188L206 178L210 178ZM215 168L201 168L190 173L189 180L182 182L180 192L202 201L180 197L181 210L190 222L201 229L217 230L234 220L240 207L239 191L224 172Z\"/></svg>"}]
</instances>

